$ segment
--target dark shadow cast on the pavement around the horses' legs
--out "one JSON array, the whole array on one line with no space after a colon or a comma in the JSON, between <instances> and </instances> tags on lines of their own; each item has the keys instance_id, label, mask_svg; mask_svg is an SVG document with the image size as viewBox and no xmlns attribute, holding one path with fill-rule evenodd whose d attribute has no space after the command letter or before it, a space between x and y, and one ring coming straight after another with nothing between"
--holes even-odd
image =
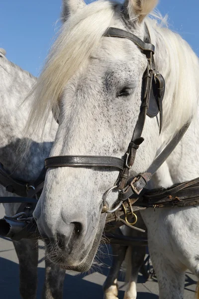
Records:
<instances>
[{"instance_id":1,"label":"dark shadow cast on the pavement around the horses' legs","mask_svg":"<svg viewBox=\"0 0 199 299\"><path fill-rule=\"evenodd\" d=\"M110 258L108 258L110 263ZM101 268L101 274L106 275L108 267ZM38 294L41 298L45 270L38 267ZM89 282L86 279L88 274L71 276L66 274L64 284L65 299L102 299L102 287L99 284ZM119 299L123 299L124 292L119 291ZM18 264L7 259L0 258L0 298L21 299L19 294ZM158 299L151 293L138 293L137 299Z\"/></svg>"}]
</instances>

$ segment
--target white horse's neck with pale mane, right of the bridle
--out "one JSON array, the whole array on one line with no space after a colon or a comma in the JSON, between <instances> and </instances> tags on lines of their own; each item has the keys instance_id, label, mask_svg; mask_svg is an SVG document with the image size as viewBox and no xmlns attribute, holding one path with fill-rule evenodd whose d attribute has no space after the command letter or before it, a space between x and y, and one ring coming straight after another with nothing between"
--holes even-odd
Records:
<instances>
[{"instance_id":1,"label":"white horse's neck with pale mane, right of the bridle","mask_svg":"<svg viewBox=\"0 0 199 299\"><path fill-rule=\"evenodd\" d=\"M178 34L154 27L156 67L166 81L163 101L162 145L191 120L180 144L157 172L159 185L191 180L199 176L199 58Z\"/></svg>"}]
</instances>

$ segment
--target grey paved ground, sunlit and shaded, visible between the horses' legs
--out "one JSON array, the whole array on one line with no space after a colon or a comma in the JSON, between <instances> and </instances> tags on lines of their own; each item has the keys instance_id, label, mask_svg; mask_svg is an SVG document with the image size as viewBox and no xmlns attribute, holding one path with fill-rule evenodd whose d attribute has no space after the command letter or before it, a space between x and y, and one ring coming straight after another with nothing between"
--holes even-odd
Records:
<instances>
[{"instance_id":1,"label":"grey paved ground, sunlit and shaded, visible between the horses' legs","mask_svg":"<svg viewBox=\"0 0 199 299\"><path fill-rule=\"evenodd\" d=\"M3 215L3 209L0 208L0 218ZM42 245L42 243L41 243ZM100 269L93 270L90 274L77 275L76 273L66 273L64 284L64 299L102 299L102 284L108 273L111 262L111 252L104 248L104 258L101 258ZM41 298L42 285L44 280L44 261L43 249L40 250L40 262L38 267L38 295ZM98 267L99 268L99 267ZM0 299L20 299L18 285L18 260L11 241L0 239ZM123 282L124 275L119 278L119 299L123 299L126 288ZM185 283L184 299L194 299L196 289L196 277L187 273ZM145 279L140 274L137 284L138 295L137 299L158 299L158 284L156 279L150 279L145 282Z\"/></svg>"}]
</instances>

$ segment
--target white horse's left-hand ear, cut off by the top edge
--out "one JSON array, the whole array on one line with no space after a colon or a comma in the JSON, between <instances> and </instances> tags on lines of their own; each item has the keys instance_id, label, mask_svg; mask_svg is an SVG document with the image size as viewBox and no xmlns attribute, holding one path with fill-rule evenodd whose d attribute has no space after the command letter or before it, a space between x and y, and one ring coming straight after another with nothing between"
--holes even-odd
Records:
<instances>
[{"instance_id":1,"label":"white horse's left-hand ear, cut off by the top edge","mask_svg":"<svg viewBox=\"0 0 199 299\"><path fill-rule=\"evenodd\" d=\"M71 14L82 9L85 5L84 0L62 0L62 21L65 22Z\"/></svg>"}]
</instances>

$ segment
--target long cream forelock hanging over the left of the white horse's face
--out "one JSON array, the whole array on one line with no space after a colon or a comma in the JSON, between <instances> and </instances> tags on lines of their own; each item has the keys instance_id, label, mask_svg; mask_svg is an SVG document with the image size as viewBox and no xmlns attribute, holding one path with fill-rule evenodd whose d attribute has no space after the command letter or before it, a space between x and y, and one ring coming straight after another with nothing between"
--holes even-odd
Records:
<instances>
[{"instance_id":1,"label":"long cream forelock hanging over the left of the white horse's face","mask_svg":"<svg viewBox=\"0 0 199 299\"><path fill-rule=\"evenodd\" d=\"M87 62L109 26L115 3L99 0L86 5L64 22L41 75L33 87L33 107L27 135L43 128L68 80Z\"/></svg>"}]
</instances>

